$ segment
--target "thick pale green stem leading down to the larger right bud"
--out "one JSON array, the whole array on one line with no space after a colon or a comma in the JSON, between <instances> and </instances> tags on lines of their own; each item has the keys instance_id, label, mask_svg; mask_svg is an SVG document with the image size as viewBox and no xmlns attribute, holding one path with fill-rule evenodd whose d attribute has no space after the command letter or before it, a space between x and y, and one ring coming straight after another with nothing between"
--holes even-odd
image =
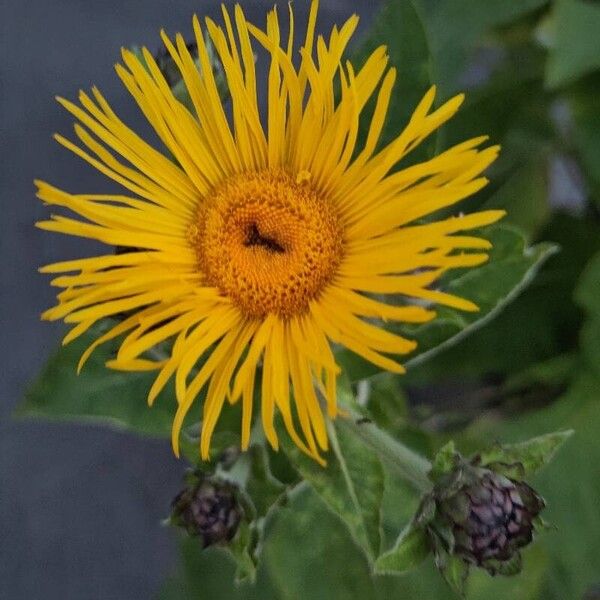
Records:
<instances>
[{"instance_id":1,"label":"thick pale green stem leading down to the larger right bud","mask_svg":"<svg viewBox=\"0 0 600 600\"><path fill-rule=\"evenodd\" d=\"M432 483L428 477L431 463L424 456L417 454L402 442L379 429L373 422L362 419L360 415L352 411L350 411L349 418L339 418L338 422L358 435L418 492L431 491Z\"/></svg>"}]
</instances>

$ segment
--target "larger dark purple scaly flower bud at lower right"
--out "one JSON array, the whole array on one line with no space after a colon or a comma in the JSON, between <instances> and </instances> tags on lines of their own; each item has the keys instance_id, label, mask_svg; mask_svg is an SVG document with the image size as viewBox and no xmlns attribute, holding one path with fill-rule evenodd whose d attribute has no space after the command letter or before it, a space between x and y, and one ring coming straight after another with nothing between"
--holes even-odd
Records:
<instances>
[{"instance_id":1,"label":"larger dark purple scaly flower bud at lower right","mask_svg":"<svg viewBox=\"0 0 600 600\"><path fill-rule=\"evenodd\" d=\"M454 538L452 553L468 563L503 572L533 539L544 501L526 483L489 469L469 469L464 485L438 501L438 515Z\"/></svg>"}]
</instances>

